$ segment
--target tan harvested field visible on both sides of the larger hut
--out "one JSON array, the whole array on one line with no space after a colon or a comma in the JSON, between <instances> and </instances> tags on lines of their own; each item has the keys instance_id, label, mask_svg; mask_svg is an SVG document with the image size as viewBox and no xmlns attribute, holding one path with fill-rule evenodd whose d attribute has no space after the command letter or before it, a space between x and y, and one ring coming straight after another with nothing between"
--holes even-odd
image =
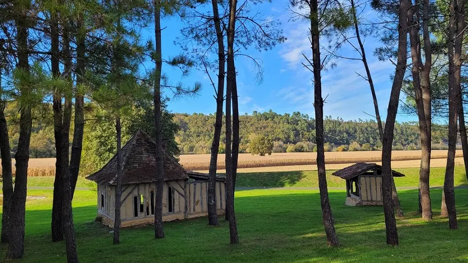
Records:
<instances>
[{"instance_id":1,"label":"tan harvested field visible on both sides of the larger hut","mask_svg":"<svg viewBox=\"0 0 468 263\"><path fill-rule=\"evenodd\" d=\"M325 153L327 170L338 170L357 162L381 161L380 151L372 152L328 152ZM393 151L392 168L417 168L421 151ZM463 154L457 150L455 165L462 166ZM270 156L239 154L239 172L281 172L317 170L317 153L274 153ZM431 167L445 167L447 151L433 150ZM13 160L14 163L14 160ZM187 170L207 172L210 155L181 155L180 163ZM14 169L14 167L13 167ZM224 154L218 156L218 170L224 172ZM29 176L54 176L55 158L29 159Z\"/></svg>"}]
</instances>

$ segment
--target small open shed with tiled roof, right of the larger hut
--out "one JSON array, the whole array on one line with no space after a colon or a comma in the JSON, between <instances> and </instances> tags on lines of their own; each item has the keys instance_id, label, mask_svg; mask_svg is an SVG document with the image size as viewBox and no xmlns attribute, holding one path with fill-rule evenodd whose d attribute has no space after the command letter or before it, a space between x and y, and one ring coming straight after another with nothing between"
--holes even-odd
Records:
<instances>
[{"instance_id":1,"label":"small open shed with tiled roof, right of the larger hut","mask_svg":"<svg viewBox=\"0 0 468 263\"><path fill-rule=\"evenodd\" d=\"M357 163L332 175L346 180L346 205L382 205L382 166ZM392 170L393 177L405 176Z\"/></svg>"}]
</instances>

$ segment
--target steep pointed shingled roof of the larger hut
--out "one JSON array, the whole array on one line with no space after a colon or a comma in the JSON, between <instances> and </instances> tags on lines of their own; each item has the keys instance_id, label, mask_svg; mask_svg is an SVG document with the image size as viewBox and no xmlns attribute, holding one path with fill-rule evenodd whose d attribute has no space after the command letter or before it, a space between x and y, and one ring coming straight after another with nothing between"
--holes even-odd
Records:
<instances>
[{"instance_id":1,"label":"steep pointed shingled roof of the larger hut","mask_svg":"<svg viewBox=\"0 0 468 263\"><path fill-rule=\"evenodd\" d=\"M155 182L156 143L139 130L122 147L122 184ZM187 179L188 175L174 158L164 153L164 181ZM99 171L86 177L97 183L116 184L117 155Z\"/></svg>"}]
</instances>

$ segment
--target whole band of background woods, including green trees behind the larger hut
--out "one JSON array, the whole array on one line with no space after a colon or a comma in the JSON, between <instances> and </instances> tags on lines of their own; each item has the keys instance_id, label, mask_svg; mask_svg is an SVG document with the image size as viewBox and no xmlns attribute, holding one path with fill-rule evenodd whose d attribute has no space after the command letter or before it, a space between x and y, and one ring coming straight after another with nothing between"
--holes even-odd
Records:
<instances>
[{"instance_id":1,"label":"whole band of background woods, including green trees behind the larger hut","mask_svg":"<svg viewBox=\"0 0 468 263\"><path fill-rule=\"evenodd\" d=\"M47 106L47 105L46 105ZM54 128L50 121L51 110L36 109L33 119L30 157L55 157ZM115 129L112 120L100 116L98 109L88 105L87 122L83 141L84 162L102 165L115 153ZM10 144L12 152L16 152L18 143L18 110L15 105L7 107L10 128ZM149 113L148 113L149 112ZM131 135L143 128L151 133L152 119L149 105L142 105L132 110L123 118L122 141L126 142ZM102 112L101 112L102 114ZM99 117L100 116L100 117ZM181 154L209 154L213 136L215 116L204 114L169 114L165 113L164 137L171 155L178 155L177 146ZM173 118L171 118L173 117ZM96 121L99 119L99 121ZM171 120L172 119L172 120ZM257 135L265 135L272 139L273 152L314 152L315 121L308 115L293 112L290 114L276 114L273 111L257 112L252 115L240 116L242 153L249 152L249 142ZM178 127L179 126L179 130ZM73 126L72 126L73 130ZM178 132L177 132L178 130ZM325 117L325 151L371 151L380 149L379 132L375 121L357 120L344 121ZM73 134L73 133L72 133ZM173 139L175 136L175 142ZM221 133L220 152L224 153L224 126ZM445 149L447 147L447 129L434 125L432 128L432 148ZM419 149L419 132L417 122L397 123L393 148L397 150ZM95 157L99 157L97 162ZM92 158L91 158L92 157ZM93 160L88 160L93 159ZM89 162L88 162L89 161Z\"/></svg>"}]
</instances>

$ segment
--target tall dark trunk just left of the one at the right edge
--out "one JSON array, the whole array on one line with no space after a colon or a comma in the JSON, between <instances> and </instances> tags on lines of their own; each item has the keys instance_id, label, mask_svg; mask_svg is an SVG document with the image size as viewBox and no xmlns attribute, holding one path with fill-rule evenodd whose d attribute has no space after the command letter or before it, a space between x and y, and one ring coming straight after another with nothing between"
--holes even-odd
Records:
<instances>
[{"instance_id":1,"label":"tall dark trunk just left of the one at the right edge","mask_svg":"<svg viewBox=\"0 0 468 263\"><path fill-rule=\"evenodd\" d=\"M458 96L461 84L461 48L464 34L464 7L463 2L450 1L449 20L449 149L447 153L447 167L444 179L444 199L446 212L449 217L450 229L458 229L455 209L455 190L453 172L455 166L455 150L457 141L457 110ZM444 208L444 204L442 205ZM442 210L442 212L445 212Z\"/></svg>"}]
</instances>

